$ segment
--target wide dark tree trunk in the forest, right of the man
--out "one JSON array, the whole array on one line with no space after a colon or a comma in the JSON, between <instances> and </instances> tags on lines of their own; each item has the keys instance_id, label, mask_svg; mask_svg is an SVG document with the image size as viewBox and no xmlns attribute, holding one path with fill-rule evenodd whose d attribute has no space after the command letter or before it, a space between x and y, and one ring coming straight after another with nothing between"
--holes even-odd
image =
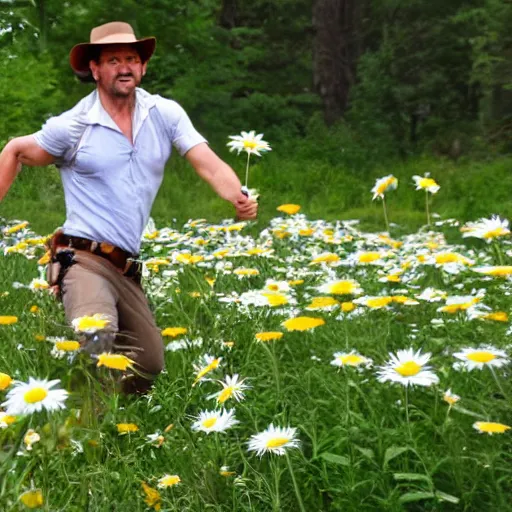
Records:
<instances>
[{"instance_id":1,"label":"wide dark tree trunk in the forest, right of the man","mask_svg":"<svg viewBox=\"0 0 512 512\"><path fill-rule=\"evenodd\" d=\"M313 5L313 81L331 125L348 106L361 54L363 0L315 0Z\"/></svg>"}]
</instances>

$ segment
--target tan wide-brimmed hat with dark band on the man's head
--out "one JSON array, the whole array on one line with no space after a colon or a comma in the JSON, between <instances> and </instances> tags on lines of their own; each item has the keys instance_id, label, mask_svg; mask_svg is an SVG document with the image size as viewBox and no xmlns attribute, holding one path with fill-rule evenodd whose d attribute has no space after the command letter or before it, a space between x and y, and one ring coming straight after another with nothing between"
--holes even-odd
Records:
<instances>
[{"instance_id":1,"label":"tan wide-brimmed hat with dark band on the man's head","mask_svg":"<svg viewBox=\"0 0 512 512\"><path fill-rule=\"evenodd\" d=\"M137 39L131 25L122 21L112 21L95 27L91 30L91 41L77 44L69 54L69 63L78 77L83 78L90 74L91 49L106 44L133 44L142 62L147 62L155 51L156 38Z\"/></svg>"}]
</instances>

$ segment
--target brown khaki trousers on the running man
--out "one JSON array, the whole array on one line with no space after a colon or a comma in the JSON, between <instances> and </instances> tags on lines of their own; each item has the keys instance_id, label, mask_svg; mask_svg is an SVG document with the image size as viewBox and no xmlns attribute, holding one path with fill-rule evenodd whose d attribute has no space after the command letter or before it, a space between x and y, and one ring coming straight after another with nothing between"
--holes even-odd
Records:
<instances>
[{"instance_id":1,"label":"brown khaki trousers on the running man","mask_svg":"<svg viewBox=\"0 0 512 512\"><path fill-rule=\"evenodd\" d=\"M106 315L108 329L117 333L116 352L135 361L147 379L156 377L164 368L164 346L142 288L95 254L75 251L74 261L61 283L67 321Z\"/></svg>"}]
</instances>

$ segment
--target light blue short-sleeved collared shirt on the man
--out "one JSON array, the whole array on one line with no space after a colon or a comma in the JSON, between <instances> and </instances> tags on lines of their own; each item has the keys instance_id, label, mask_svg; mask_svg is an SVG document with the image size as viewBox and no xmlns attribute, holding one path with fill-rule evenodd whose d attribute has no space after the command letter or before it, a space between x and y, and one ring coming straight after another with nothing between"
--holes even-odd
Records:
<instances>
[{"instance_id":1,"label":"light blue short-sleeved collared shirt on the man","mask_svg":"<svg viewBox=\"0 0 512 512\"><path fill-rule=\"evenodd\" d=\"M34 137L57 158L66 201L64 233L138 254L172 146L184 155L206 140L178 103L139 88L132 124L133 144L94 91L48 119Z\"/></svg>"}]
</instances>

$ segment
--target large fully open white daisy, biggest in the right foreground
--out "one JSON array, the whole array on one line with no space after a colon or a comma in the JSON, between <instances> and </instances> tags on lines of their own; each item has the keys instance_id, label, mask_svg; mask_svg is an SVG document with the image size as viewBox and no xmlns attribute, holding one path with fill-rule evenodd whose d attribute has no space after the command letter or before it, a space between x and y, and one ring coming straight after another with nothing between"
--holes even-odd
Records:
<instances>
[{"instance_id":1,"label":"large fully open white daisy, biggest in the right foreground","mask_svg":"<svg viewBox=\"0 0 512 512\"><path fill-rule=\"evenodd\" d=\"M437 384L439 378L426 366L430 359L430 353L416 353L412 348L399 350L396 355L390 354L391 360L385 366L378 368L379 382L399 382L404 386L431 386Z\"/></svg>"}]
</instances>

